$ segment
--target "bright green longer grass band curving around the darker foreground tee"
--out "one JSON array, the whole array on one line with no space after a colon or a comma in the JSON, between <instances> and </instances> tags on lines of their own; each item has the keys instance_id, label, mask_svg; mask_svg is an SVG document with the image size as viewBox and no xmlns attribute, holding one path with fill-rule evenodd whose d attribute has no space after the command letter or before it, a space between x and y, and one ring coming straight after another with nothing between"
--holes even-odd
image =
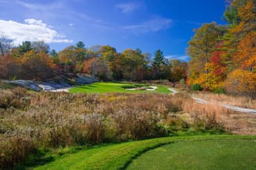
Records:
<instances>
[{"instance_id":1,"label":"bright green longer grass band curving around the darker foreground tee","mask_svg":"<svg viewBox=\"0 0 256 170\"><path fill-rule=\"evenodd\" d=\"M141 155L152 148L157 148L164 144L193 141L198 139L230 139L230 142L232 142L234 139L256 139L256 137L212 135L147 139L138 142L127 142L90 148L71 155L65 155L63 158L59 158L54 162L35 169L124 169L132 160L138 157L138 155ZM211 146L209 145L209 147ZM253 151L252 149L254 148L255 147L251 147L248 151Z\"/></svg>"}]
</instances>

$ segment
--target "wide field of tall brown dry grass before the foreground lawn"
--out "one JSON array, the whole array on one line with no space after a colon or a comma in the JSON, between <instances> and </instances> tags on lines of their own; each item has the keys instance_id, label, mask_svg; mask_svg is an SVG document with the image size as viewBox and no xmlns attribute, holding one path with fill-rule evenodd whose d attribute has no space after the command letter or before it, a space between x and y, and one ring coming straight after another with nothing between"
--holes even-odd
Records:
<instances>
[{"instance_id":1,"label":"wide field of tall brown dry grass before the foreground lawn","mask_svg":"<svg viewBox=\"0 0 256 170\"><path fill-rule=\"evenodd\" d=\"M238 113L195 103L186 94L28 93L15 89L0 91L0 96L0 169L24 162L42 147L147 139L188 128L232 132L238 122L230 116ZM230 117L234 122L227 121Z\"/></svg>"}]
</instances>

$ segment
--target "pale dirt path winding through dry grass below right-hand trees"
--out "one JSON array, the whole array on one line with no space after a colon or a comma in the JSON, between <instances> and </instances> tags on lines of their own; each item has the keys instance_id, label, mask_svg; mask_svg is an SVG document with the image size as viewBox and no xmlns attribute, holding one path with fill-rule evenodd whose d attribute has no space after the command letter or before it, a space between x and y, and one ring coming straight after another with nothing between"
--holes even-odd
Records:
<instances>
[{"instance_id":1,"label":"pale dirt path winding through dry grass below right-hand trees","mask_svg":"<svg viewBox=\"0 0 256 170\"><path fill-rule=\"evenodd\" d=\"M169 88L168 90L170 90L170 92L173 92L173 94L177 94L177 90L173 89L173 88ZM221 104L221 103L216 103L216 102L211 102L211 101L206 101L204 99L200 99L197 97L192 97L192 99L194 99L196 102L201 103L201 104L218 104L221 105L225 108L228 108L230 110L234 110L237 112L246 112L246 113L250 113L250 114L256 114L256 110L255 109L248 109L248 108L241 108L235 105L227 105L227 104Z\"/></svg>"}]
</instances>

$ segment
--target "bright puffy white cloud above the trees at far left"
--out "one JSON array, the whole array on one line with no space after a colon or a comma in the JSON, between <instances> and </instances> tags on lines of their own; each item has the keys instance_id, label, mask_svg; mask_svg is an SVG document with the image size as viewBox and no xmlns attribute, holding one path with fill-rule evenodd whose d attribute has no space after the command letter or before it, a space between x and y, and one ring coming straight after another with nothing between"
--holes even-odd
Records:
<instances>
[{"instance_id":1,"label":"bright puffy white cloud above the trees at far left","mask_svg":"<svg viewBox=\"0 0 256 170\"><path fill-rule=\"evenodd\" d=\"M0 19L0 33L13 40L15 45L24 41L72 42L72 40L65 39L65 35L61 35L42 20L25 19L24 22L23 24Z\"/></svg>"}]
</instances>

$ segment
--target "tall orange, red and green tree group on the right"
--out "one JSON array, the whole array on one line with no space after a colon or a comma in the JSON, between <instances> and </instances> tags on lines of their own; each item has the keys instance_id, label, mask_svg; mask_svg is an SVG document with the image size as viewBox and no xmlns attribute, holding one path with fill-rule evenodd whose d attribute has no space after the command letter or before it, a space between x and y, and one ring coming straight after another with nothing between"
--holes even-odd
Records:
<instances>
[{"instance_id":1,"label":"tall orange, red and green tree group on the right","mask_svg":"<svg viewBox=\"0 0 256 170\"><path fill-rule=\"evenodd\" d=\"M187 83L195 89L256 97L256 1L228 1L227 25L195 30L187 53Z\"/></svg>"}]
</instances>

